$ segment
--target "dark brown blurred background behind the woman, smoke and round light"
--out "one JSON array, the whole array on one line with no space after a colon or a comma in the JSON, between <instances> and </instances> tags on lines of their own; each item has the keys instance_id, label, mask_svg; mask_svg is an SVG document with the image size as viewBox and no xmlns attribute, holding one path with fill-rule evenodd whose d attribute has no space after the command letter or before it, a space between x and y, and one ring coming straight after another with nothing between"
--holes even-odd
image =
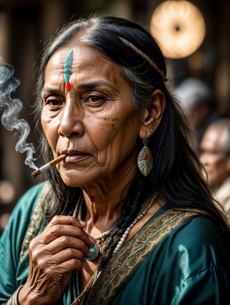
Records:
<instances>
[{"instance_id":1,"label":"dark brown blurred background behind the woman, smoke and round light","mask_svg":"<svg viewBox=\"0 0 230 305\"><path fill-rule=\"evenodd\" d=\"M0 56L13 65L20 80L15 96L23 103L19 117L31 132L27 142L35 149L33 109L36 68L45 41L70 19L92 13L112 14L150 26L151 16L162 1L158 0L0 0ZM174 85L187 77L205 81L214 91L218 110L230 116L230 1L191 1L202 13L206 35L198 50L181 59L170 59ZM180 23L180 20L178 20ZM0 116L2 111L0 110ZM31 178L33 171L24 164L26 154L17 153L14 131L0 124L0 234L19 197L42 175ZM35 164L40 167L39 155Z\"/></svg>"}]
</instances>

